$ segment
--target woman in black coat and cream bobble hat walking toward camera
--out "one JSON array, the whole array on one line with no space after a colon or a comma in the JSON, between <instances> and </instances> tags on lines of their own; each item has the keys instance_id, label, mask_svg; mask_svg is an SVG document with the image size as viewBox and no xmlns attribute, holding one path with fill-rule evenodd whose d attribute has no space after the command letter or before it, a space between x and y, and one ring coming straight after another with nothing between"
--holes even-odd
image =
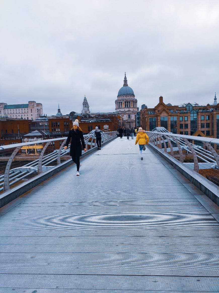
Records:
<instances>
[{"instance_id":1,"label":"woman in black coat and cream bobble hat walking toward camera","mask_svg":"<svg viewBox=\"0 0 219 293\"><path fill-rule=\"evenodd\" d=\"M73 122L73 127L69 131L65 147L64 149L67 149L68 144L71 140L71 146L70 146L70 156L72 157L72 161L77 165L77 173L76 175L79 176L79 168L80 168L80 156L82 153L82 147L84 151L86 151L85 143L84 143L84 136L81 128L79 127L78 120L76 119ZM82 146L81 146L82 144Z\"/></svg>"}]
</instances>

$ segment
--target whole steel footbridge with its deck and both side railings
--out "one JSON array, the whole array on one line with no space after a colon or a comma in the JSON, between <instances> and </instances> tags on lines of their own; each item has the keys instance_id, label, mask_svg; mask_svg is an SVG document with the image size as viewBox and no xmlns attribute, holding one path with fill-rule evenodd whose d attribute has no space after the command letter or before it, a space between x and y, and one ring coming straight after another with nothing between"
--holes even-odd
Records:
<instances>
[{"instance_id":1,"label":"whole steel footbridge with its deck and both side railings","mask_svg":"<svg viewBox=\"0 0 219 293\"><path fill-rule=\"evenodd\" d=\"M219 139L147 134L1 147L0 293L219 292Z\"/></svg>"}]
</instances>

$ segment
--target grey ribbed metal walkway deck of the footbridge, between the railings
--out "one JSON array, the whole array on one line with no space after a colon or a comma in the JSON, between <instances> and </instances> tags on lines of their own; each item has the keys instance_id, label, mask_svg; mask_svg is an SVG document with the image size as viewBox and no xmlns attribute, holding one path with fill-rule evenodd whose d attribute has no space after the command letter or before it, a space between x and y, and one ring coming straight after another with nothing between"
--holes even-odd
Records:
<instances>
[{"instance_id":1,"label":"grey ribbed metal walkway deck of the footbridge, between the railings","mask_svg":"<svg viewBox=\"0 0 219 293\"><path fill-rule=\"evenodd\" d=\"M117 138L0 209L0 293L219 292L219 208Z\"/></svg>"}]
</instances>

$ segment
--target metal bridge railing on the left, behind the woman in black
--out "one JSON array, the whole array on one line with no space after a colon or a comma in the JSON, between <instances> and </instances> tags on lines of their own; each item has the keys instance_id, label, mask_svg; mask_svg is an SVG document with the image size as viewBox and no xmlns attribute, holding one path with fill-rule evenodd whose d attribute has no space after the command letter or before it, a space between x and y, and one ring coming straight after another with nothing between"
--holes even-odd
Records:
<instances>
[{"instance_id":1,"label":"metal bridge railing on the left, behind the woman in black","mask_svg":"<svg viewBox=\"0 0 219 293\"><path fill-rule=\"evenodd\" d=\"M116 131L102 133L102 143L116 136ZM0 146L0 193L68 161L70 144L65 150L66 139L62 137ZM84 135L84 142L89 152L96 147L95 135Z\"/></svg>"}]
</instances>

